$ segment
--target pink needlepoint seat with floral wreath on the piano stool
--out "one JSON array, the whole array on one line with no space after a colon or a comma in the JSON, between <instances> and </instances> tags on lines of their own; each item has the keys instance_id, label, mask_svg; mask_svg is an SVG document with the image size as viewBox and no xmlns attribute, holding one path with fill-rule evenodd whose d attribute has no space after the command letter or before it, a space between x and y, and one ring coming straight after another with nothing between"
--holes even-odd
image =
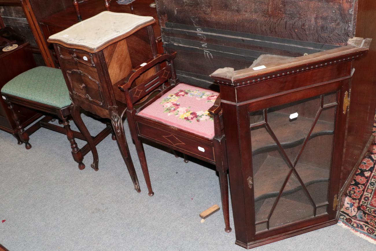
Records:
<instances>
[{"instance_id":1,"label":"pink needlepoint seat with floral wreath on the piano stool","mask_svg":"<svg viewBox=\"0 0 376 251\"><path fill-rule=\"evenodd\" d=\"M208 109L219 93L178 84L138 113L206 138L214 137L214 121Z\"/></svg>"}]
</instances>

